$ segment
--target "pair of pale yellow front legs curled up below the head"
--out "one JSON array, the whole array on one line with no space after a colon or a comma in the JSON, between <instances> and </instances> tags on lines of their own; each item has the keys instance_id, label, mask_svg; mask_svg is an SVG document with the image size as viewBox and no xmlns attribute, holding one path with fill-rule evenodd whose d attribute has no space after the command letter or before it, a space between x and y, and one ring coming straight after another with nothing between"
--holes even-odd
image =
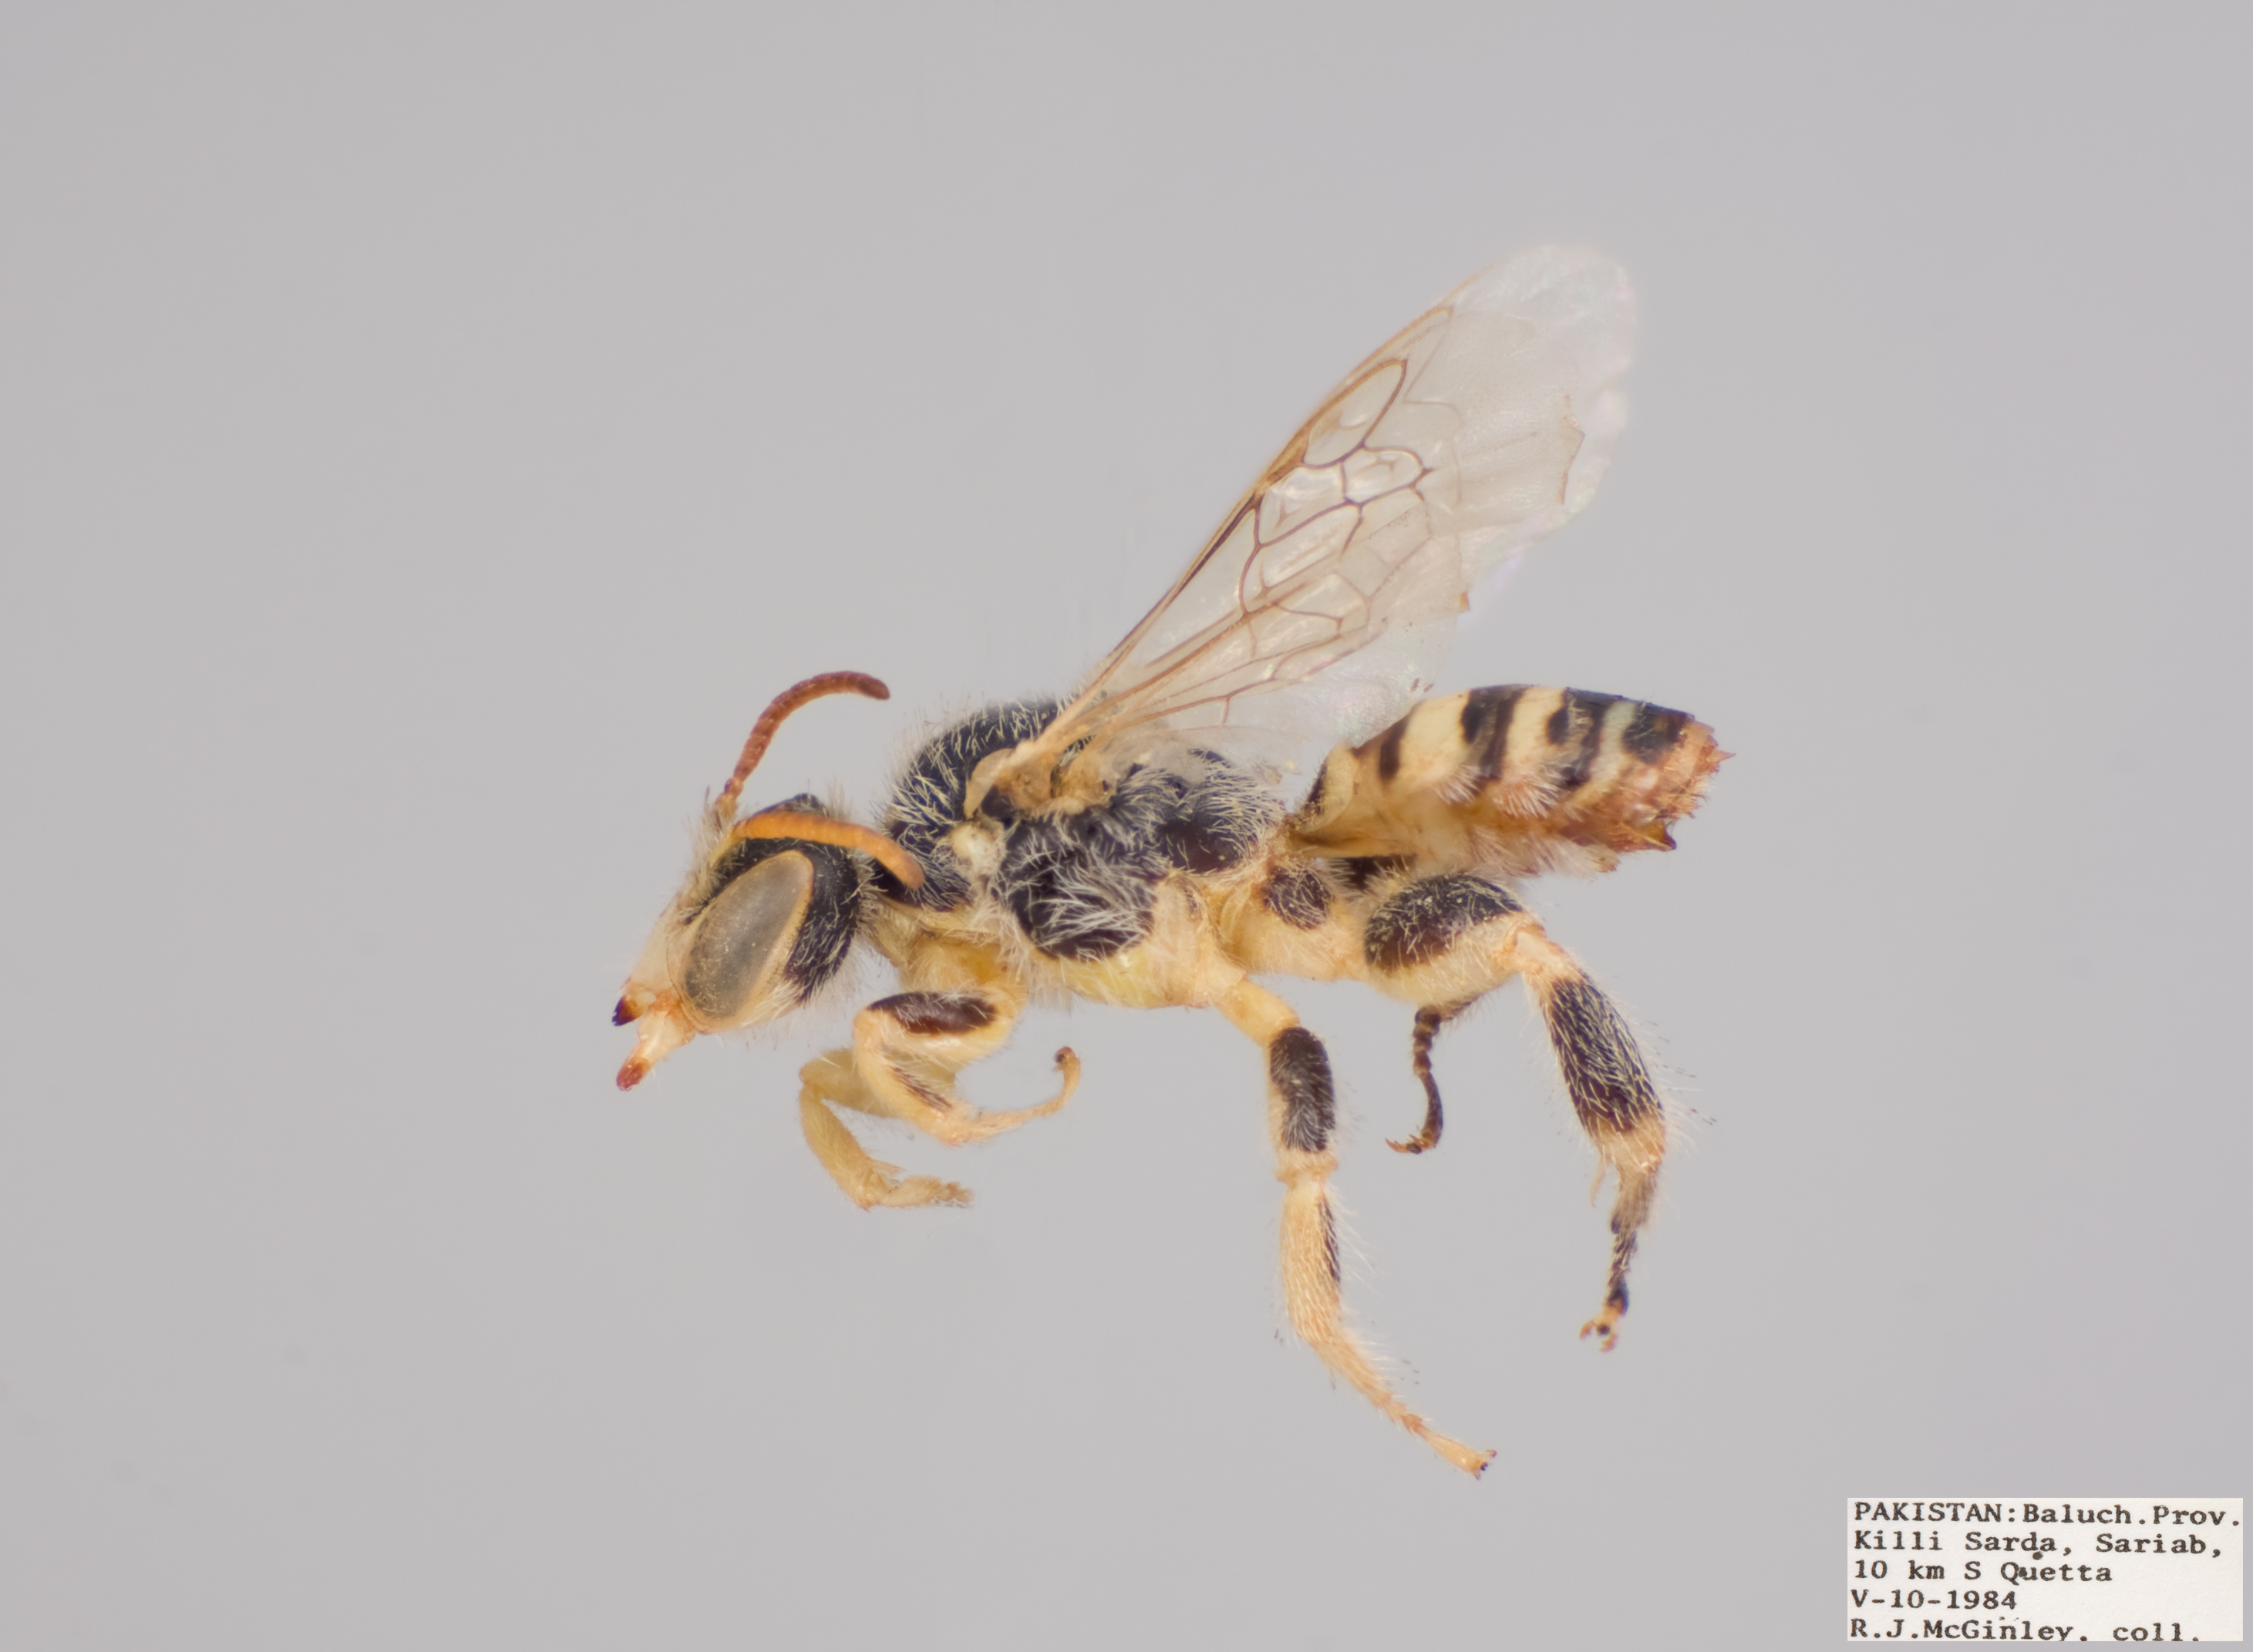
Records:
<instances>
[{"instance_id":1,"label":"pair of pale yellow front legs curled up below the head","mask_svg":"<svg viewBox=\"0 0 2253 1652\"><path fill-rule=\"evenodd\" d=\"M800 1125L807 1145L863 1210L872 1204L969 1204L971 1192L933 1176L899 1179L897 1165L870 1158L838 1118L838 1107L899 1118L949 1147L987 1140L1054 1113L1079 1084L1079 1057L1057 1050L1059 1093L1041 1107L982 1113L955 1091L955 1075L1009 1039L1018 1003L1003 994L901 992L854 1016L849 1050L831 1050L800 1071Z\"/></svg>"}]
</instances>

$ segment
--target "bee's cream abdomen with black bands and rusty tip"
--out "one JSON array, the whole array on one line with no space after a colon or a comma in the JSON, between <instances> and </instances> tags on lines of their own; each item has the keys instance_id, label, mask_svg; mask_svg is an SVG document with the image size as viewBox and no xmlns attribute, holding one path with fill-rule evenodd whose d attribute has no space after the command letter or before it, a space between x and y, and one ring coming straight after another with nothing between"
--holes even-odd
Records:
<instances>
[{"instance_id":1,"label":"bee's cream abdomen with black bands and rusty tip","mask_svg":"<svg viewBox=\"0 0 2253 1652\"><path fill-rule=\"evenodd\" d=\"M1577 687L1473 687L1422 701L1323 764L1291 832L1311 854L1413 854L1431 865L1609 872L1672 850L1728 753L1665 705Z\"/></svg>"}]
</instances>

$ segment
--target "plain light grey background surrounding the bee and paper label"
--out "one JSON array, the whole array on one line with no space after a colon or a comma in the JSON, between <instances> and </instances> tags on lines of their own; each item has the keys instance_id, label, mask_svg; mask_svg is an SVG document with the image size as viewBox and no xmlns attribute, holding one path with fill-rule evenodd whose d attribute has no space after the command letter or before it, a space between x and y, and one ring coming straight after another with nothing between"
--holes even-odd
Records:
<instances>
[{"instance_id":1,"label":"plain light grey background surrounding the bee and paper label","mask_svg":"<svg viewBox=\"0 0 2253 1652\"><path fill-rule=\"evenodd\" d=\"M1809 1645L1856 1494L2246 1490L2244 14L0 11L0 1641ZM1687 705L1543 886L1708 1122L1615 1355L1514 989L879 1152L606 1014L750 717L870 805L1066 685L1368 347L1546 239L1642 293L1595 509L1444 687ZM865 994L883 987L876 971Z\"/></svg>"}]
</instances>

